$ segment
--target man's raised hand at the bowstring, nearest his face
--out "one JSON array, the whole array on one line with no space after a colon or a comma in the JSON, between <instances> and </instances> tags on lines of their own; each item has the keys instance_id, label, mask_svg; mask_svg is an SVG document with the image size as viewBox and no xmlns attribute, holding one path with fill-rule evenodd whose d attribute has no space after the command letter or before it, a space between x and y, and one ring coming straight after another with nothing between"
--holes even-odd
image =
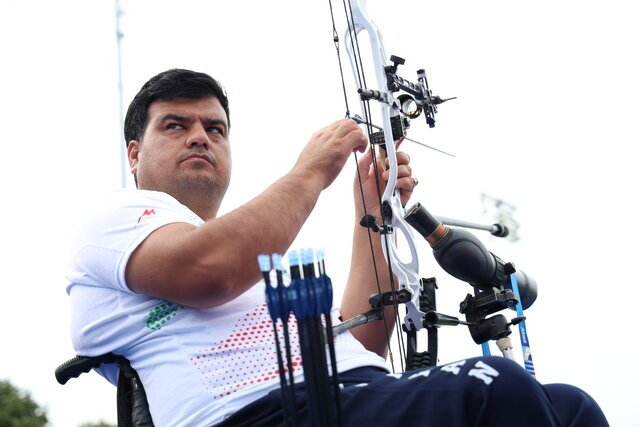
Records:
<instances>
[{"instance_id":1,"label":"man's raised hand at the bowstring, nearest his face","mask_svg":"<svg viewBox=\"0 0 640 427\"><path fill-rule=\"evenodd\" d=\"M344 167L354 151L364 152L367 136L351 119L341 119L313 134L300 153L293 172L327 188Z\"/></svg>"}]
</instances>

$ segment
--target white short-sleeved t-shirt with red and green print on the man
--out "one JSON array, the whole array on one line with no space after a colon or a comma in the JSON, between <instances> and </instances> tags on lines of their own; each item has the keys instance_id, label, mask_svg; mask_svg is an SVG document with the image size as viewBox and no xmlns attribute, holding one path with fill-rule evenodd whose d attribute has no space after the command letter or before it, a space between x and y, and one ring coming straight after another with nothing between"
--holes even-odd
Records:
<instances>
[{"instance_id":1,"label":"white short-sleeved t-shirt with red and green print on the man","mask_svg":"<svg viewBox=\"0 0 640 427\"><path fill-rule=\"evenodd\" d=\"M273 324L263 282L209 309L129 289L125 267L132 252L154 230L176 222L203 224L165 193L120 190L104 198L81 228L66 269L71 335L76 354L113 352L131 361L156 425L209 426L280 386ZM302 381L294 320L289 335L294 372ZM336 354L339 372L386 369L384 359L349 332L336 337ZM101 373L115 384L115 369Z\"/></svg>"}]
</instances>

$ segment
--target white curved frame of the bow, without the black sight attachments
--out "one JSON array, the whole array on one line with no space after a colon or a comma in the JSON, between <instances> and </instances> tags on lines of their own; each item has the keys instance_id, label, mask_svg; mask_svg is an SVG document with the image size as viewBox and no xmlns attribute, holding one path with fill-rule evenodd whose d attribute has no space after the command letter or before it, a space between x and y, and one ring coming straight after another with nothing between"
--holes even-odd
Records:
<instances>
[{"instance_id":1,"label":"white curved frame of the bow, without the black sight attachments","mask_svg":"<svg viewBox=\"0 0 640 427\"><path fill-rule=\"evenodd\" d=\"M382 219L386 233L381 235L382 248L385 259L398 280L400 290L409 291L411 297L406 302L408 313L404 318L404 324L409 329L422 329L424 313L420 311L420 276L419 262L413 232L409 224L404 220L404 208L400 199L400 193L396 189L398 181L398 159L396 156L396 145L393 137L391 118L400 114L399 102L394 98L393 93L387 88L386 76L386 54L382 41L382 34L373 21L368 17L366 10L366 0L352 0L351 2L351 23L345 37L346 50L350 58L354 78L359 89L366 90L363 70L360 68L359 48L357 47L357 37L362 31L369 37L371 46L372 62L376 74L376 91L379 92L377 102L380 105L382 127L384 134L385 152L389 163L389 178L380 198L382 208ZM367 101L361 103L362 115L368 123L372 123L369 114ZM371 130L371 129L370 129ZM371 135L371 131L369 134ZM370 136L371 138L371 136ZM384 161L383 161L384 163ZM374 161L375 164L375 161ZM399 255L397 246L398 234L406 241L409 248L410 259L403 262Z\"/></svg>"}]
</instances>

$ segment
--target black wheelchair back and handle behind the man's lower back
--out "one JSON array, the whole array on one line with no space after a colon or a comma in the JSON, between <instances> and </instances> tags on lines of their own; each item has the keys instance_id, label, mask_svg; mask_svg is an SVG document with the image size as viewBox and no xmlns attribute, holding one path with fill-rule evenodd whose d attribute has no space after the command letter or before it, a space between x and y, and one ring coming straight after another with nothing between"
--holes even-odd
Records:
<instances>
[{"instance_id":1,"label":"black wheelchair back and handle behind the man's lower back","mask_svg":"<svg viewBox=\"0 0 640 427\"><path fill-rule=\"evenodd\" d=\"M120 369L117 391L118 427L152 427L149 402L142 381L123 356L113 353L93 357L76 356L56 368L56 380L64 385L71 378L107 364L116 364Z\"/></svg>"}]
</instances>

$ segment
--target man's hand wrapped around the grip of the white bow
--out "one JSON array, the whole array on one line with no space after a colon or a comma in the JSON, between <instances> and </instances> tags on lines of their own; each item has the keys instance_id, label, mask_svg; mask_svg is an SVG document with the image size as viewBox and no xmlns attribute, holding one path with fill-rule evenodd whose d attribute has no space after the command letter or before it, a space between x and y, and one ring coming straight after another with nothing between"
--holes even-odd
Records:
<instances>
[{"instance_id":1,"label":"man's hand wrapped around the grip of the white bow","mask_svg":"<svg viewBox=\"0 0 640 427\"><path fill-rule=\"evenodd\" d=\"M398 160L398 181L396 182L396 189L400 190L400 200L402 206L405 206L413 193L413 189L416 186L416 181L411 175L411 166L409 166L409 155L405 152L398 151L396 153ZM362 191L364 194L364 201L366 207L366 213L374 215L378 223L382 222L380 217L380 198L379 194L382 194L387 181L389 180L388 159L386 160L386 167L382 168L380 159L378 161L378 173L381 173L380 192L376 188L376 177L373 168L373 156L371 150L360 158L358 161L358 168L360 177L356 176L353 188L354 188L354 202L356 206L357 218L361 218L365 212L363 212L362 195L360 193L360 182L362 182Z\"/></svg>"}]
</instances>

